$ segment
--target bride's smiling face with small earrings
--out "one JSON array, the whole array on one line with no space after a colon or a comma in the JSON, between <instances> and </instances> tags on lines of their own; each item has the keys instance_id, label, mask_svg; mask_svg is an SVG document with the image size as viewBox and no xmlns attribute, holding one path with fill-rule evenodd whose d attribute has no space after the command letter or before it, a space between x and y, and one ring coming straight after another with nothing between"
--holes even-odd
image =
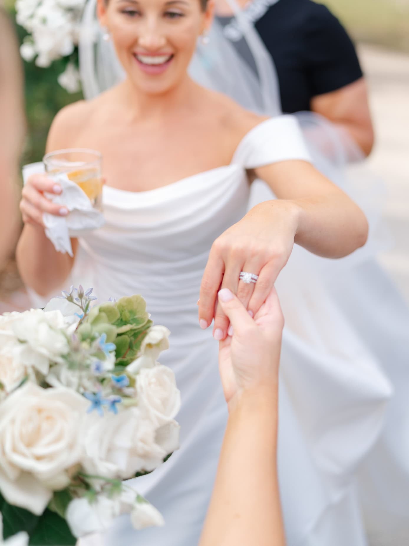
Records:
<instances>
[{"instance_id":1,"label":"bride's smiling face with small earrings","mask_svg":"<svg viewBox=\"0 0 409 546\"><path fill-rule=\"evenodd\" d=\"M187 78L197 40L212 22L204 0L98 0L101 25L139 92L162 94Z\"/></svg>"}]
</instances>

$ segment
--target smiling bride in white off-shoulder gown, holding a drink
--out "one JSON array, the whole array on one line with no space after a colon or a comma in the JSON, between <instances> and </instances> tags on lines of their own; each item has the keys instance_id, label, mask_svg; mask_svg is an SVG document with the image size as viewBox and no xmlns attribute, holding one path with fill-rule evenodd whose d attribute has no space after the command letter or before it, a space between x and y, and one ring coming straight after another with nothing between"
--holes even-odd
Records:
<instances>
[{"instance_id":1,"label":"smiling bride in white off-shoulder gown, holding a drink","mask_svg":"<svg viewBox=\"0 0 409 546\"><path fill-rule=\"evenodd\" d=\"M72 241L74 258L57 253L42 216L68 210L45 197L61 188L33 175L22 192L25 227L17 261L23 280L39 294L84 278L100 300L141 292L158 322L171 329L164 364L175 371L182 392L181 449L136 482L166 526L135 537L118 519L104 540L192 546L226 424L213 339L225 339L230 328L215 306L220 285L255 313L294 242L339 258L364 245L367 223L353 201L312 167L292 116L257 116L189 78L197 40L206 41L212 22L211 0L99 0L98 14L127 77L62 110L47 151L86 147L103 154L106 224ZM246 213L256 177L278 199ZM380 430L390 388L359 343L348 339L347 330L341 334L352 343L353 361L342 352L324 358L302 336L284 336L279 474L288 544L294 546L364 544L346 492ZM340 450L345 434L352 446ZM348 529L345 518L351 518Z\"/></svg>"}]
</instances>

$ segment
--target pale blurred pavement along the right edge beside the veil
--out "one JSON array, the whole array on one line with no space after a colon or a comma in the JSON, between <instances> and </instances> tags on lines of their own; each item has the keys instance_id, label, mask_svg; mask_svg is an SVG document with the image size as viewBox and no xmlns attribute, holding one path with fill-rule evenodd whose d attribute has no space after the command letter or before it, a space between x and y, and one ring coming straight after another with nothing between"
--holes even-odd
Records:
<instances>
[{"instance_id":1,"label":"pale blurred pavement along the right edge beside the veil","mask_svg":"<svg viewBox=\"0 0 409 546\"><path fill-rule=\"evenodd\" d=\"M360 46L376 131L369 164L385 182L383 217L393 245L382 263L409 302L409 55Z\"/></svg>"}]
</instances>

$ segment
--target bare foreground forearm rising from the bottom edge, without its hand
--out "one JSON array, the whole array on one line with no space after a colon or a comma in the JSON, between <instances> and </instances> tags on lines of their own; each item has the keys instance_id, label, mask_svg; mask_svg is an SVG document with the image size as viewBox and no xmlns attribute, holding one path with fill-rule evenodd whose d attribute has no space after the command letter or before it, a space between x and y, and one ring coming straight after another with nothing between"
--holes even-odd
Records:
<instances>
[{"instance_id":1,"label":"bare foreground forearm rising from the bottom edge, without its hand","mask_svg":"<svg viewBox=\"0 0 409 546\"><path fill-rule=\"evenodd\" d=\"M200 546L283 546L276 474L277 391L245 391L233 408Z\"/></svg>"}]
</instances>

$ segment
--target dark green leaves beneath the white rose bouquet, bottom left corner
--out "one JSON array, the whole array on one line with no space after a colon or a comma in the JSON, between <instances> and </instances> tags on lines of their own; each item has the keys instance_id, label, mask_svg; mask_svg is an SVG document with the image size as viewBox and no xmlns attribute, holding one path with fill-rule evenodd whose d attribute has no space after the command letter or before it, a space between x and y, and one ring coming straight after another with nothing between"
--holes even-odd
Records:
<instances>
[{"instance_id":1,"label":"dark green leaves beneath the white rose bouquet, bottom left corner","mask_svg":"<svg viewBox=\"0 0 409 546\"><path fill-rule=\"evenodd\" d=\"M4 539L26 531L32 546L74 546L76 543L67 522L48 508L43 515L37 516L9 505L0 494L0 512L3 514Z\"/></svg>"}]
</instances>

